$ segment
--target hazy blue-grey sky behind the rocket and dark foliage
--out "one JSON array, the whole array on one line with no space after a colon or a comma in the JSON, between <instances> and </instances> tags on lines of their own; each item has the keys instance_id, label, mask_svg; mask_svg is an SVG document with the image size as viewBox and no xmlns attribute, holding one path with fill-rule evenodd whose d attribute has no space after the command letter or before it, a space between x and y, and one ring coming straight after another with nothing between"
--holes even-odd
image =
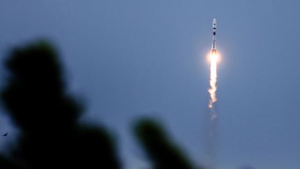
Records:
<instances>
[{"instance_id":1,"label":"hazy blue-grey sky behind the rocket and dark foliage","mask_svg":"<svg viewBox=\"0 0 300 169\"><path fill-rule=\"evenodd\" d=\"M217 168L297 169L299 8L296 0L1 0L0 54L2 60L10 47L52 40L70 90L88 102L84 119L112 129L127 168L144 161L130 135L141 115L165 122L201 163L206 55L217 18ZM0 131L7 130L15 131L2 113Z\"/></svg>"}]
</instances>

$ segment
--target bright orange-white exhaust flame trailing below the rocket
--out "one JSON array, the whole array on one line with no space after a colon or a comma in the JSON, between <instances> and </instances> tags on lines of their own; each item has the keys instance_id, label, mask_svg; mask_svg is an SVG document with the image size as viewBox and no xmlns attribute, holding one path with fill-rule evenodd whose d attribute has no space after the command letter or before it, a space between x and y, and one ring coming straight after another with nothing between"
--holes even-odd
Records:
<instances>
[{"instance_id":1,"label":"bright orange-white exhaust flame trailing below the rocket","mask_svg":"<svg viewBox=\"0 0 300 169\"><path fill-rule=\"evenodd\" d=\"M213 104L217 102L217 60L217 54L210 54L210 88L208 89L208 92L210 93L210 102L208 104L208 107L210 109L213 109ZM211 116L212 120L214 118L217 118L217 115L215 113L213 113Z\"/></svg>"}]
</instances>

